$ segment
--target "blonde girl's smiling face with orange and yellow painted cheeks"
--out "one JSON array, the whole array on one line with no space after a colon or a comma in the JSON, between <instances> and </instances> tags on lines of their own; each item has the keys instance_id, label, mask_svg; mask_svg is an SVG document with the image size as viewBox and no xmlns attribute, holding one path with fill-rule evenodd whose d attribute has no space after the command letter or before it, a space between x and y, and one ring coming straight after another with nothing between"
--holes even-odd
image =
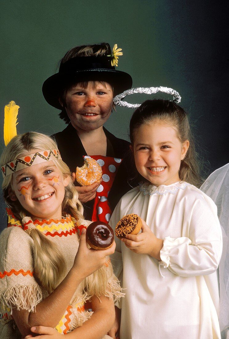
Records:
<instances>
[{"instance_id":1,"label":"blonde girl's smiling face with orange and yellow painted cheeks","mask_svg":"<svg viewBox=\"0 0 229 339\"><path fill-rule=\"evenodd\" d=\"M69 181L53 161L33 165L13 174L11 200L19 200L32 218L60 218L64 187Z\"/></svg>"}]
</instances>

